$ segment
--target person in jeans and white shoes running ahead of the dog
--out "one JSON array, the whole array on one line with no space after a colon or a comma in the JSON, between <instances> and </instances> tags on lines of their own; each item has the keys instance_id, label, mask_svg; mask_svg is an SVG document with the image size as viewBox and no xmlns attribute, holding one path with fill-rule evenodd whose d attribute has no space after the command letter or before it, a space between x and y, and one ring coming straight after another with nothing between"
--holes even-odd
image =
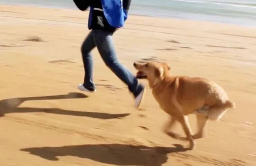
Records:
<instances>
[{"instance_id":1,"label":"person in jeans and white shoes running ahead of the dog","mask_svg":"<svg viewBox=\"0 0 256 166\"><path fill-rule=\"evenodd\" d=\"M80 10L86 10L90 6L88 28L91 30L81 47L85 76L84 82L77 88L85 92L96 92L91 50L97 47L104 63L128 86L135 98L135 107L138 108L145 93L145 86L139 84L137 78L118 61L112 40L113 33L124 26L131 0L74 0L74 2Z\"/></svg>"}]
</instances>

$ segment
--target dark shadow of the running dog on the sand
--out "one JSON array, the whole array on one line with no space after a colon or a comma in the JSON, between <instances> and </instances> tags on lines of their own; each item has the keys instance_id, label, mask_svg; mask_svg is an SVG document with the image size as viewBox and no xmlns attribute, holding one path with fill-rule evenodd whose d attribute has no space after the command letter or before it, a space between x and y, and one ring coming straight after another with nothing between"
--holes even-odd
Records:
<instances>
[{"instance_id":1,"label":"dark shadow of the running dog on the sand","mask_svg":"<svg viewBox=\"0 0 256 166\"><path fill-rule=\"evenodd\" d=\"M186 151L182 145L174 147L129 146L124 144L75 145L62 147L36 147L20 149L47 160L59 160L59 156L74 156L96 162L128 166L162 166L167 162L167 154Z\"/></svg>"}]
</instances>

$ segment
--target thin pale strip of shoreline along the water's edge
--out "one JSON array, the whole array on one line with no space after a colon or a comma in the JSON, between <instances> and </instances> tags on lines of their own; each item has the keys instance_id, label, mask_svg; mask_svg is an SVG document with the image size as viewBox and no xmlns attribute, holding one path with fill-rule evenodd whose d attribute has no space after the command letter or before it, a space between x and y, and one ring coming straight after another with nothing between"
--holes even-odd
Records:
<instances>
[{"instance_id":1,"label":"thin pale strip of shoreline along the water's edge","mask_svg":"<svg viewBox=\"0 0 256 166\"><path fill-rule=\"evenodd\" d=\"M35 7L35 8L43 8L43 9L67 9L67 10L79 10L77 8L61 8L61 7L48 7L48 6L40 6L40 5L22 5L22 4L13 4L13 5L9 5L9 4L1 4L0 6L17 6L17 7ZM80 10L79 10L80 11ZM86 10L86 12L88 12L89 10ZM1 12L1 10L0 10ZM81 11L81 12L85 12L85 11ZM177 18L177 17L158 17L158 16L151 16L151 15L140 15L140 14L129 14L130 16L142 16L142 17L152 17L152 18L162 18L162 19L175 19L175 20L184 20L184 21L202 21L202 22L209 22L209 23L217 23L217 24L226 24L226 25L235 25L235 26L241 26L241 27L250 27L250 28L256 28L256 26L253 25L245 25L245 24L235 24L235 23L229 23L229 22L222 22L222 21L210 21L210 20L201 20L201 19L183 19L183 18Z\"/></svg>"}]
</instances>

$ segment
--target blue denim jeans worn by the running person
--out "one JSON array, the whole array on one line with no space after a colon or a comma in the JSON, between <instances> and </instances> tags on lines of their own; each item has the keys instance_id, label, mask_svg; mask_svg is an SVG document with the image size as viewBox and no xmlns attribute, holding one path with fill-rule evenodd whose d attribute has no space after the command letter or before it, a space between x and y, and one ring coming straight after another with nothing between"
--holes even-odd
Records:
<instances>
[{"instance_id":1,"label":"blue denim jeans worn by the running person","mask_svg":"<svg viewBox=\"0 0 256 166\"><path fill-rule=\"evenodd\" d=\"M84 87L88 90L94 90L93 83L93 58L91 50L97 47L101 58L105 64L122 80L129 88L130 92L136 97L143 86L117 59L115 48L112 41L112 33L103 30L91 30L90 34L84 40L82 45L82 57L84 63Z\"/></svg>"}]
</instances>

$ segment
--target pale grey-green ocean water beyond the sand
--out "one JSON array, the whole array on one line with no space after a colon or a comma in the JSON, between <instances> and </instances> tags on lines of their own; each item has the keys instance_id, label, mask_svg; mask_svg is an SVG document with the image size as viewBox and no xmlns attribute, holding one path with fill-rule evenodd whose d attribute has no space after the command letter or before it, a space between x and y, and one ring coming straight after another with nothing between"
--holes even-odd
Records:
<instances>
[{"instance_id":1,"label":"pale grey-green ocean water beyond the sand","mask_svg":"<svg viewBox=\"0 0 256 166\"><path fill-rule=\"evenodd\" d=\"M73 0L0 0L0 4L76 9ZM256 26L256 0L132 0L130 13Z\"/></svg>"}]
</instances>

